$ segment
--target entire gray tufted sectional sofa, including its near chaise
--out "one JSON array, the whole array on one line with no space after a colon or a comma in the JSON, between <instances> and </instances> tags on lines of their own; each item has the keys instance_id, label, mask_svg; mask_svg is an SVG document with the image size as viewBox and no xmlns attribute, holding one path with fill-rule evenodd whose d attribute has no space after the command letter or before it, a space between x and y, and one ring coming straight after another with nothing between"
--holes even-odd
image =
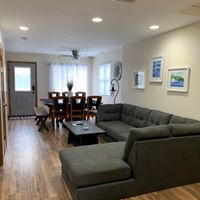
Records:
<instances>
[{"instance_id":1,"label":"entire gray tufted sectional sofa, including its near chaise","mask_svg":"<svg viewBox=\"0 0 200 200\"><path fill-rule=\"evenodd\" d=\"M119 200L200 181L200 122L128 104L101 105L112 141L60 151L74 200Z\"/></svg>"}]
</instances>

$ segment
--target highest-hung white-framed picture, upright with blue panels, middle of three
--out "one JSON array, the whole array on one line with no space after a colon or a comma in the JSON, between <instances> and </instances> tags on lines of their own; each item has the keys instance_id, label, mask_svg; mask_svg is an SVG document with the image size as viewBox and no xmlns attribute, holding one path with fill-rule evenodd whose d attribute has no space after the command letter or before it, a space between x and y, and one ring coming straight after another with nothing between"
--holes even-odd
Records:
<instances>
[{"instance_id":1,"label":"highest-hung white-framed picture, upright with blue panels, middle of three","mask_svg":"<svg viewBox=\"0 0 200 200\"><path fill-rule=\"evenodd\" d=\"M151 59L150 82L162 82L163 79L163 56Z\"/></svg>"}]
</instances>

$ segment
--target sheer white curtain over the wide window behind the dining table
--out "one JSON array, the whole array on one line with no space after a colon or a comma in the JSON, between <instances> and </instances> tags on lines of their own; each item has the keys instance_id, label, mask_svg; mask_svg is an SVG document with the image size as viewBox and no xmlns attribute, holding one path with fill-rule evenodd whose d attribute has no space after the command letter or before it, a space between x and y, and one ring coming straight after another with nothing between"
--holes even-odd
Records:
<instances>
[{"instance_id":1,"label":"sheer white curtain over the wide window behind the dining table","mask_svg":"<svg viewBox=\"0 0 200 200\"><path fill-rule=\"evenodd\" d=\"M73 92L88 92L88 66L81 64L52 63L49 66L49 89L68 91L67 82L73 80Z\"/></svg>"}]
</instances>

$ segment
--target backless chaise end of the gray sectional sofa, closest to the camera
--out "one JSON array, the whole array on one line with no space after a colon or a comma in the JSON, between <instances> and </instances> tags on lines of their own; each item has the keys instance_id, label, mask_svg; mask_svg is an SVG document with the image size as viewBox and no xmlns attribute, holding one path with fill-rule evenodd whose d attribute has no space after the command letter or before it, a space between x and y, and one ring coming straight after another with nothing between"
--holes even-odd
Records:
<instances>
[{"instance_id":1,"label":"backless chaise end of the gray sectional sofa, closest to the camera","mask_svg":"<svg viewBox=\"0 0 200 200\"><path fill-rule=\"evenodd\" d=\"M74 200L117 200L127 195L134 179L122 159L124 145L115 142L60 151L62 177Z\"/></svg>"}]
</instances>

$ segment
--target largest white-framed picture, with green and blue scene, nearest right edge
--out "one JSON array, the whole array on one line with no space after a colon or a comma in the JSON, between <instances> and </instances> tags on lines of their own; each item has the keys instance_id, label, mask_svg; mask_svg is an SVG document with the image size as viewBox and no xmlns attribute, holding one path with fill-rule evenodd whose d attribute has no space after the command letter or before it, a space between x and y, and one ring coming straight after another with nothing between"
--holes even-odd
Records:
<instances>
[{"instance_id":1,"label":"largest white-framed picture, with green and blue scene, nearest right edge","mask_svg":"<svg viewBox=\"0 0 200 200\"><path fill-rule=\"evenodd\" d=\"M174 92L188 92L189 68L168 69L167 90Z\"/></svg>"}]
</instances>

